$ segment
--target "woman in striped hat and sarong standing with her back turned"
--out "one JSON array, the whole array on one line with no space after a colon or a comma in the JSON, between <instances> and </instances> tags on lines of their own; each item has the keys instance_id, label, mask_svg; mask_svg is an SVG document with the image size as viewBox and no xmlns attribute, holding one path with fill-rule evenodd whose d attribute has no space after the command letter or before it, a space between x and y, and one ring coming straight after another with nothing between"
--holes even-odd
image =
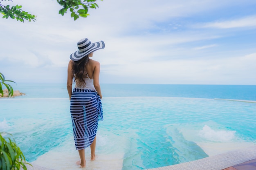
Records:
<instances>
[{"instance_id":1,"label":"woman in striped hat and sarong standing with her back turned","mask_svg":"<svg viewBox=\"0 0 256 170\"><path fill-rule=\"evenodd\" d=\"M98 121L103 120L101 87L99 84L100 64L90 59L93 52L104 49L103 41L91 43L84 38L77 43L78 51L70 55L67 68L67 91L70 97L70 113L76 150L81 161L76 164L85 167L85 148L90 146L91 160L95 159ZM76 83L72 92L72 84Z\"/></svg>"}]
</instances>

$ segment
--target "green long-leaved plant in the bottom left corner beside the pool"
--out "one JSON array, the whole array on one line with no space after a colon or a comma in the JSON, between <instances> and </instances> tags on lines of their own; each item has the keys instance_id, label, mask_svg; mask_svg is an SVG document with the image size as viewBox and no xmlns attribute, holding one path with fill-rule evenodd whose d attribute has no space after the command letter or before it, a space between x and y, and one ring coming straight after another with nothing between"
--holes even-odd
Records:
<instances>
[{"instance_id":1,"label":"green long-leaved plant in the bottom left corner beside the pool","mask_svg":"<svg viewBox=\"0 0 256 170\"><path fill-rule=\"evenodd\" d=\"M0 133L0 170L20 170L20 168L27 170L25 164L32 166L26 162L15 141L11 141L9 137L5 140Z\"/></svg>"}]
</instances>

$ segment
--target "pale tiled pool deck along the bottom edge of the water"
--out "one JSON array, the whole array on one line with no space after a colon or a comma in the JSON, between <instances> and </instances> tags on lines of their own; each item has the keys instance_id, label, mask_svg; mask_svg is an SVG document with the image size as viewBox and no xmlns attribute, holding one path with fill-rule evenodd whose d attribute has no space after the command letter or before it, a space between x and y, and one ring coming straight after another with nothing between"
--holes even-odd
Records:
<instances>
[{"instance_id":1,"label":"pale tiled pool deck along the bottom edge of the water","mask_svg":"<svg viewBox=\"0 0 256 170\"><path fill-rule=\"evenodd\" d=\"M86 168L85 168L86 169ZM54 170L33 165L27 170ZM147 170L256 170L256 145L195 161Z\"/></svg>"}]
</instances>

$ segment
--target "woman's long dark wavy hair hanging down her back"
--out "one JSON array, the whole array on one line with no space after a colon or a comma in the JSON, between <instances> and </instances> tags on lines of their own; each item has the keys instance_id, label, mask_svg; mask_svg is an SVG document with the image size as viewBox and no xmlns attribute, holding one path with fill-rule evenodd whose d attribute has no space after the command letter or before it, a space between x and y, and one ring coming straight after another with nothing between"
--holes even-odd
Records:
<instances>
[{"instance_id":1,"label":"woman's long dark wavy hair hanging down her back","mask_svg":"<svg viewBox=\"0 0 256 170\"><path fill-rule=\"evenodd\" d=\"M72 74L74 75L74 82L83 84L85 86L84 77L86 76L85 65L89 61L88 55L83 57L81 60L73 61L72 65Z\"/></svg>"}]
</instances>

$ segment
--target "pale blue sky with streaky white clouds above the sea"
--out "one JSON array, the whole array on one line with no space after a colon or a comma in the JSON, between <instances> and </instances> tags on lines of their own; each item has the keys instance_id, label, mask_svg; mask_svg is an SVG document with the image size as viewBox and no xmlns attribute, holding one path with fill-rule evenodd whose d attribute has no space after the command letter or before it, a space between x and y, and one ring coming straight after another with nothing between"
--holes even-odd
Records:
<instances>
[{"instance_id":1,"label":"pale blue sky with streaky white clouds above the sea","mask_svg":"<svg viewBox=\"0 0 256 170\"><path fill-rule=\"evenodd\" d=\"M8 3L37 15L0 20L0 72L15 82L65 83L87 37L106 43L101 83L256 84L255 0L104 0L76 21L55 0Z\"/></svg>"}]
</instances>

